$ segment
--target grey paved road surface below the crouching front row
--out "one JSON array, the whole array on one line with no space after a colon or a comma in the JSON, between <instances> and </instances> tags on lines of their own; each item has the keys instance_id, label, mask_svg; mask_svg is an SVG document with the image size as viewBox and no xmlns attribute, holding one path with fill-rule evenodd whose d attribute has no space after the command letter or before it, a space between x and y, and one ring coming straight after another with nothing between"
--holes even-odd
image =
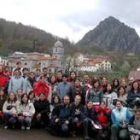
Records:
<instances>
[{"instance_id":1,"label":"grey paved road surface below the crouching front row","mask_svg":"<svg viewBox=\"0 0 140 140\"><path fill-rule=\"evenodd\" d=\"M65 140L67 138L54 137L50 135L47 130L20 130L20 129L3 129L0 126L0 140ZM82 137L72 138L69 137L69 140L83 140Z\"/></svg>"}]
</instances>

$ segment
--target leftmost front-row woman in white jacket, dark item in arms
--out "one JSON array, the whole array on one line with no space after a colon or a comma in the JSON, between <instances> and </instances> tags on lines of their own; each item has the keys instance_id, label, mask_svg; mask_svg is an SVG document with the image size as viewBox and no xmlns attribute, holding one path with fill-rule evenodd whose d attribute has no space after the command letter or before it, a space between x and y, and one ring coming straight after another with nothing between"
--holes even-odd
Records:
<instances>
[{"instance_id":1,"label":"leftmost front-row woman in white jacket, dark item in arms","mask_svg":"<svg viewBox=\"0 0 140 140\"><path fill-rule=\"evenodd\" d=\"M3 105L3 113L5 119L5 129L8 126L14 127L17 122L17 116L19 112L19 102L17 101L16 95L14 93L9 93L8 100L5 101Z\"/></svg>"}]
</instances>

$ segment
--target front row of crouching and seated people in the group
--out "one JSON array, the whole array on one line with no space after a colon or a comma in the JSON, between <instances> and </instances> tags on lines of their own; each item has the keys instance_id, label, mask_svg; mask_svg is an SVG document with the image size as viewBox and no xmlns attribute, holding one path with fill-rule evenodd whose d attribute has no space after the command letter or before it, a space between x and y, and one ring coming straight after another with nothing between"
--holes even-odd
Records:
<instances>
[{"instance_id":1,"label":"front row of crouching and seated people in the group","mask_svg":"<svg viewBox=\"0 0 140 140\"><path fill-rule=\"evenodd\" d=\"M93 106L88 101L86 106L80 104L81 96L76 95L70 104L69 96L64 96L60 103L59 97L54 96L52 104L46 100L45 95L30 101L27 94L22 95L21 101L16 100L16 95L9 94L8 100L3 105L2 115L5 126L29 130L32 127L49 128L53 135L76 136L84 135L88 140L94 137L100 139L129 139L140 138L140 110L130 112L122 106L121 101L116 101L116 108L109 110L104 102Z\"/></svg>"}]
</instances>

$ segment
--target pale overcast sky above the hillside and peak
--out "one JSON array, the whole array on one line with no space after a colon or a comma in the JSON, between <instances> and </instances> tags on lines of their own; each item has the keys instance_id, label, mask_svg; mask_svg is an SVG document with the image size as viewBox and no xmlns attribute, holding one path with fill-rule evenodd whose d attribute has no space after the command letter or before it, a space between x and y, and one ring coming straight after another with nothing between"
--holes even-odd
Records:
<instances>
[{"instance_id":1,"label":"pale overcast sky above the hillside and peak","mask_svg":"<svg viewBox=\"0 0 140 140\"><path fill-rule=\"evenodd\" d=\"M140 35L140 0L0 0L0 18L77 42L108 16Z\"/></svg>"}]
</instances>

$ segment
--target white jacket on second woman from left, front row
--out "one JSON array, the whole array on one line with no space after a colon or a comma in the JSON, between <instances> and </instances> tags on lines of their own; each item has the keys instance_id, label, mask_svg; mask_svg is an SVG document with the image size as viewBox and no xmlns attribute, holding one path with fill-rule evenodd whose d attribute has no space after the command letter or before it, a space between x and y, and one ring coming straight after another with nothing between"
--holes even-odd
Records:
<instances>
[{"instance_id":1,"label":"white jacket on second woman from left, front row","mask_svg":"<svg viewBox=\"0 0 140 140\"><path fill-rule=\"evenodd\" d=\"M19 104L19 110L20 113L23 114L23 116L32 117L35 114L35 108L33 103L28 102L28 104Z\"/></svg>"}]
</instances>

